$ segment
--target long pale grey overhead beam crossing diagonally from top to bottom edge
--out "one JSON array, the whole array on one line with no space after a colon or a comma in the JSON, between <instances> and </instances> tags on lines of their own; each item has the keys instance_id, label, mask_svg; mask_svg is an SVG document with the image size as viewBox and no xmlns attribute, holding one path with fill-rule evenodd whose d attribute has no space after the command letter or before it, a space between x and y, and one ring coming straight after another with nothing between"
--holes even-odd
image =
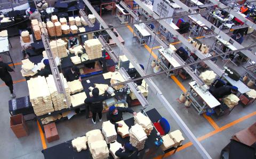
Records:
<instances>
[{"instance_id":1,"label":"long pale grey overhead beam crossing diagonally from top to bottom edge","mask_svg":"<svg viewBox=\"0 0 256 159\"><path fill-rule=\"evenodd\" d=\"M105 21L102 20L102 18L99 16L99 14L93 9L92 5L87 1L83 0L85 5L89 8L89 10L94 14L94 16L97 18L97 20L100 22L101 26L103 28L108 28L108 25ZM127 56L127 58L130 60L134 68L140 73L141 76L145 76L146 73L144 70L141 69L139 63L134 59L133 54L126 49L126 47L117 39L114 32L111 30L107 30L109 36L114 40L114 42L117 44L121 52ZM157 98L162 102L162 104L166 107L167 111L172 115L173 119L179 124L180 128L185 132L185 134L188 136L189 140L194 144L198 152L202 155L203 158L211 158L211 156L206 152L204 147L199 143L197 138L193 135L193 133L189 130L185 122L180 118L177 112L175 112L174 108L170 105L170 103L167 101L167 99L163 96L162 92L158 89L158 87L155 85L155 83L150 79L147 78L145 81L148 83L150 89L152 90L152 93L157 96Z\"/></svg>"}]
</instances>

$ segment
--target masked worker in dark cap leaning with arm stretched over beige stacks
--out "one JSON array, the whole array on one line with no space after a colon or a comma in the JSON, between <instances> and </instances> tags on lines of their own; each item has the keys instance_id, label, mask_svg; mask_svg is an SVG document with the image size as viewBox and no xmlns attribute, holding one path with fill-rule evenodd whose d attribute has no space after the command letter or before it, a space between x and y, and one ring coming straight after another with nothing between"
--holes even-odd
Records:
<instances>
[{"instance_id":1,"label":"masked worker in dark cap leaning with arm stretched over beige stacks","mask_svg":"<svg viewBox=\"0 0 256 159\"><path fill-rule=\"evenodd\" d=\"M115 107L115 106L110 106L107 114L107 120L109 120L111 123L115 125L115 128L117 127L122 127L122 124L118 124L116 122L123 120L123 113L124 112L129 112L133 114L134 116L137 115L136 112L134 112L130 107Z\"/></svg>"}]
</instances>

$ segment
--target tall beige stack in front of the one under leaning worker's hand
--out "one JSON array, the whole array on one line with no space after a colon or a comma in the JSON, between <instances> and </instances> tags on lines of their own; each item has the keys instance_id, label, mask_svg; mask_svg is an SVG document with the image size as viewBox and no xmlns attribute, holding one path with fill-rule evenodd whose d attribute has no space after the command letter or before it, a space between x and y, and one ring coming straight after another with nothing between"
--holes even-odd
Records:
<instances>
[{"instance_id":1,"label":"tall beige stack in front of the one under leaning worker's hand","mask_svg":"<svg viewBox=\"0 0 256 159\"><path fill-rule=\"evenodd\" d=\"M132 146L141 150L144 148L145 141L148 138L147 134L139 124L135 124L129 130L130 132L130 143Z\"/></svg>"}]
</instances>

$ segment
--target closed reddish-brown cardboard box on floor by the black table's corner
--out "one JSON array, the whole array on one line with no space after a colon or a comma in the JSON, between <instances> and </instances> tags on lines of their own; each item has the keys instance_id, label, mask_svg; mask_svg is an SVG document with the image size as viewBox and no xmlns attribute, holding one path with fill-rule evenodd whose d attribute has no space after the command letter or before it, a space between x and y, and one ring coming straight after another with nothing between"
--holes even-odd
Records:
<instances>
[{"instance_id":1,"label":"closed reddish-brown cardboard box on floor by the black table's corner","mask_svg":"<svg viewBox=\"0 0 256 159\"><path fill-rule=\"evenodd\" d=\"M48 143L60 139L56 124L54 122L44 125L44 133Z\"/></svg>"}]
</instances>

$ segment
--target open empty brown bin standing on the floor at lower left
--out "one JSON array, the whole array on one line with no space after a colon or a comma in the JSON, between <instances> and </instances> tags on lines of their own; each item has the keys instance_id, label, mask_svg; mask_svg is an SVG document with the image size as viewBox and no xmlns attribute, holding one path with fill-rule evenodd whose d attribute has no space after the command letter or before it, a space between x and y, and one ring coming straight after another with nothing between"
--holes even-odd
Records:
<instances>
[{"instance_id":1,"label":"open empty brown bin standing on the floor at lower left","mask_svg":"<svg viewBox=\"0 0 256 159\"><path fill-rule=\"evenodd\" d=\"M29 134L27 123L22 114L10 117L10 127L17 138L28 136Z\"/></svg>"}]
</instances>

